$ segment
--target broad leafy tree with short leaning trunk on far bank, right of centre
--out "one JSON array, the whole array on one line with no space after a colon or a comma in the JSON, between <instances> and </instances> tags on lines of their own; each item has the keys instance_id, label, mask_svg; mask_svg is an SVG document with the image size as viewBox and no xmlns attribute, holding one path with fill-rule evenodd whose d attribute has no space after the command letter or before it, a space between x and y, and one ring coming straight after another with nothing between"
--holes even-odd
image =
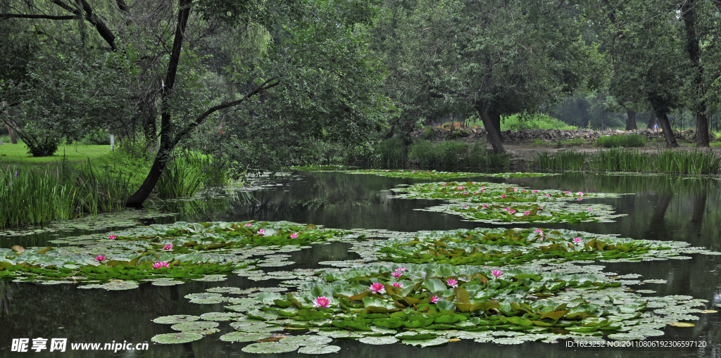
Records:
<instances>
[{"instance_id":1,"label":"broad leafy tree with short leaning trunk on far bank, right of centre","mask_svg":"<svg viewBox=\"0 0 721 358\"><path fill-rule=\"evenodd\" d=\"M606 71L565 1L417 1L410 7L395 36L402 44L397 76L410 86L395 98L407 99L406 106L475 112L497 153L504 152L501 115L539 112L562 94L600 82L596 75Z\"/></svg>"}]
</instances>

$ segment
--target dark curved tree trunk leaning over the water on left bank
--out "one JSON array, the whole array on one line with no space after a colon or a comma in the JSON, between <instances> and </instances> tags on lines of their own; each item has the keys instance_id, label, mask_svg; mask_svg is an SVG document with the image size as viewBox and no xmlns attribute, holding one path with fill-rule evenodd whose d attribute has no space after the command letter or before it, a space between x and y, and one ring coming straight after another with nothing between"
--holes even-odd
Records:
<instances>
[{"instance_id":1,"label":"dark curved tree trunk leaning over the water on left bank","mask_svg":"<svg viewBox=\"0 0 721 358\"><path fill-rule=\"evenodd\" d=\"M185 28L187 27L187 18L190 15L190 4L193 0L179 0L178 1L178 23L175 29L175 38L173 39L172 53L170 53L170 60L168 62L168 72L165 76L162 91L162 114L160 122L160 146L158 148L158 154L155 157L153 166L150 168L148 176L146 176L143 184L134 192L128 200L125 201L125 205L128 206L139 206L145 202L153 192L155 184L160 179L163 169L170 160L177 140L170 138L172 131L172 120L169 112L168 97L172 94L173 86L175 84L175 75L178 71L178 63L180 61L180 50L182 48L182 42L185 37Z\"/></svg>"}]
</instances>

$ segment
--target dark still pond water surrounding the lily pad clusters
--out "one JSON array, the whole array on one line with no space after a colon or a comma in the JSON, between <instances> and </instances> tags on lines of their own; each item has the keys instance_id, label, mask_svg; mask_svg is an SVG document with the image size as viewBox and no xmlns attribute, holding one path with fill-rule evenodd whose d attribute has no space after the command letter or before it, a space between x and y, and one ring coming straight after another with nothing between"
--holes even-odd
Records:
<instances>
[{"instance_id":1,"label":"dark still pond water surrounding the lily pad clusters","mask_svg":"<svg viewBox=\"0 0 721 358\"><path fill-rule=\"evenodd\" d=\"M477 179L476 179L477 180ZM588 233L618 235L636 240L684 241L721 251L721 190L715 178L680 178L676 176L637 176L566 173L557 176L521 178L484 178L486 182L508 183L532 189L560 189L569 192L619 193L611 197L585 198L588 205L609 205L618 217L603 223L497 223L464 221L459 215L443 211L424 211L443 203L432 199L404 199L390 189L399 185L431 182L427 179L402 179L371 174L342 172L296 172L283 185L252 192L252 200L221 202L212 210L195 210L182 215L156 215L144 223L174 221L280 221L313 223L326 228L377 229L384 231L448 231L473 228L553 228ZM632 193L632 194L628 194ZM212 205L211 205L212 206ZM161 211L177 211L165 207ZM110 225L105 231L120 230ZM6 236L0 247L45 246L49 240L76 236L82 230ZM52 245L52 243L50 243ZM323 261L361 260L349 252L347 241L313 244L310 249L288 252L283 267L263 267L265 272L293 269L324 269ZM707 300L699 310L717 310L721 304L721 256L689 254L691 259L640 262L596 262L603 272L616 276L641 275L638 280L660 280L628 287L648 290L644 297L688 295ZM583 264L580 264L583 265ZM53 357L257 357L242 352L248 343L226 342L219 338L234 331L229 322L221 321L219 332L187 344L154 344L153 336L173 333L167 324L154 323L155 318L172 315L200 316L223 312L224 305L190 303L186 295L205 292L211 287L276 287L278 279L255 281L229 274L225 281L190 281L183 285L140 285L133 290L79 290L77 285L38 285L4 280L0 282L0 356L16 357L11 352L12 339L43 337L66 338L68 351L47 350L29 355ZM653 292L652 292L653 291ZM401 344L362 344L353 339L334 339L344 357L717 357L721 355L721 313L694 313L698 320L692 327L658 328L663 336L649 336L644 342L693 341L686 347L590 348L570 347L567 341L549 344L526 341L522 344L477 343L472 339L452 340L443 346L419 348ZM148 342L148 350L97 352L71 351L70 342L106 343ZM572 341L570 341L572 342ZM32 350L32 349L29 349ZM305 356L298 352L278 357ZM275 354L274 354L275 356Z\"/></svg>"}]
</instances>

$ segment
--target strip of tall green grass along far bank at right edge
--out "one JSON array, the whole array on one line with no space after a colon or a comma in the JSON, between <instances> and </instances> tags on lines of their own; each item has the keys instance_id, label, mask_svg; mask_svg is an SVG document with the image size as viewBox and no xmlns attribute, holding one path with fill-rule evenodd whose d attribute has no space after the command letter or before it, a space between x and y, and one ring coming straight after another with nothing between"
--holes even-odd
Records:
<instances>
[{"instance_id":1,"label":"strip of tall green grass along far bank at right edge","mask_svg":"<svg viewBox=\"0 0 721 358\"><path fill-rule=\"evenodd\" d=\"M609 149L586 154L575 151L536 153L537 169L593 171L633 171L681 174L716 174L721 156L711 151L658 151L643 153L637 149Z\"/></svg>"}]
</instances>

